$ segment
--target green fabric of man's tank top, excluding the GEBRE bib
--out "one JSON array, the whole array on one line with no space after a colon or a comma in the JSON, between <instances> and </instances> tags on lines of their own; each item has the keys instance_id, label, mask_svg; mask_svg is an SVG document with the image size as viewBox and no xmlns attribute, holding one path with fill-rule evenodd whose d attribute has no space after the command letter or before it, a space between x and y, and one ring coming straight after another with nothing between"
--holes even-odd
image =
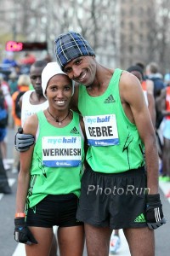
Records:
<instances>
[{"instance_id":1,"label":"green fabric of man's tank top, excluding the GEBRE bib","mask_svg":"<svg viewBox=\"0 0 170 256\"><path fill-rule=\"evenodd\" d=\"M86 87L79 86L78 108L83 117L116 114L119 144L88 148L88 164L95 172L126 172L144 166L144 144L136 125L127 119L122 108L119 95L121 73L121 69L115 70L107 90L101 96L89 96Z\"/></svg>"}]
</instances>

